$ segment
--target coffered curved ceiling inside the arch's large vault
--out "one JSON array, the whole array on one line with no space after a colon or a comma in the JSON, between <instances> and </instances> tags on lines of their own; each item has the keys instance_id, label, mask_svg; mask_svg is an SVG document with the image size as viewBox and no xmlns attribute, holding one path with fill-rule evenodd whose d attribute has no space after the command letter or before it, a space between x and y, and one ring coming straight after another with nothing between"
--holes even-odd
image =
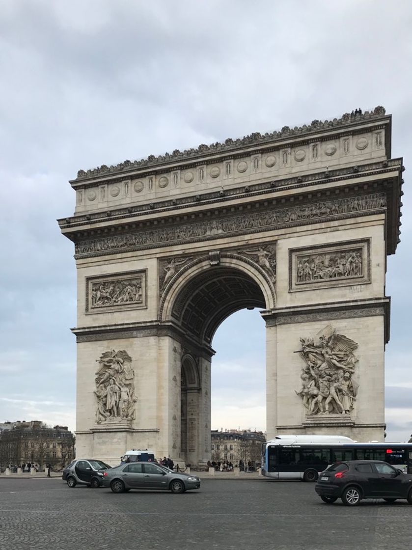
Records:
<instances>
[{"instance_id":1,"label":"coffered curved ceiling inside the arch's large vault","mask_svg":"<svg viewBox=\"0 0 412 550\"><path fill-rule=\"evenodd\" d=\"M172 316L186 331L211 344L219 324L245 307L266 309L259 284L243 271L216 266L185 285L174 302Z\"/></svg>"}]
</instances>

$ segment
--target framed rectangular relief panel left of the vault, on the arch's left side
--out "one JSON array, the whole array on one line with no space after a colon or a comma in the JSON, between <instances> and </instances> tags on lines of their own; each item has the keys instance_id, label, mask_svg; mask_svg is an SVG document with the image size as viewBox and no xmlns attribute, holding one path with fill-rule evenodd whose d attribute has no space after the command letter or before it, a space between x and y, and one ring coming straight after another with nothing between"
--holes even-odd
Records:
<instances>
[{"instance_id":1,"label":"framed rectangular relief panel left of the vault, on the arch's left side","mask_svg":"<svg viewBox=\"0 0 412 550\"><path fill-rule=\"evenodd\" d=\"M147 307L147 270L86 277L86 313Z\"/></svg>"}]
</instances>

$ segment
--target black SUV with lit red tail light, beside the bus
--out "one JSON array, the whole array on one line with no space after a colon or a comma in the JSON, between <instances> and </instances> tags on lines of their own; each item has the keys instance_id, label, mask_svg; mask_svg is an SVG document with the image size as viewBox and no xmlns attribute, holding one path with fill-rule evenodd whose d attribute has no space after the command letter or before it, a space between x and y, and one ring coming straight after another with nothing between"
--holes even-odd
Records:
<instances>
[{"instance_id":1,"label":"black SUV with lit red tail light, beside the bus","mask_svg":"<svg viewBox=\"0 0 412 550\"><path fill-rule=\"evenodd\" d=\"M336 462L319 474L315 491L328 504L338 498L347 506L358 505L362 498L405 498L412 504L412 474L381 460Z\"/></svg>"}]
</instances>

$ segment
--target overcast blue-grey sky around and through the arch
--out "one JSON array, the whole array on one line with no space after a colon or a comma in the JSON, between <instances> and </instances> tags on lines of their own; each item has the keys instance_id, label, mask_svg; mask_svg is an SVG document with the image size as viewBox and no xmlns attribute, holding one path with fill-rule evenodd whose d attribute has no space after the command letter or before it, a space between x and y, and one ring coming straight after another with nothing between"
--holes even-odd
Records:
<instances>
[{"instance_id":1,"label":"overcast blue-grey sky around and through the arch","mask_svg":"<svg viewBox=\"0 0 412 550\"><path fill-rule=\"evenodd\" d=\"M402 243L388 259L389 441L412 433L412 3L0 0L0 422L75 428L72 215L78 169L339 117L393 114ZM212 427L265 429L265 329L213 347ZM294 388L292 388L294 389Z\"/></svg>"}]
</instances>

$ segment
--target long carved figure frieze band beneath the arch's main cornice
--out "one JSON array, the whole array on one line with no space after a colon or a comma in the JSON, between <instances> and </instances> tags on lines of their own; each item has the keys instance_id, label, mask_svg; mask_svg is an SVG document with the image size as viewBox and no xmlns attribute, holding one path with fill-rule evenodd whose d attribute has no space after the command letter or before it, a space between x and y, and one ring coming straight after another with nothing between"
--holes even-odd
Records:
<instances>
[{"instance_id":1,"label":"long carved figure frieze band beneath the arch's main cornice","mask_svg":"<svg viewBox=\"0 0 412 550\"><path fill-rule=\"evenodd\" d=\"M169 246L172 243L190 243L199 240L227 238L229 235L259 233L281 227L316 223L329 219L342 219L382 211L386 208L386 195L347 197L323 202L279 208L263 212L222 217L211 221L190 224L176 224L150 230L114 235L112 237L81 240L75 245L75 257L114 254L117 251L143 250L156 246Z\"/></svg>"}]
</instances>

